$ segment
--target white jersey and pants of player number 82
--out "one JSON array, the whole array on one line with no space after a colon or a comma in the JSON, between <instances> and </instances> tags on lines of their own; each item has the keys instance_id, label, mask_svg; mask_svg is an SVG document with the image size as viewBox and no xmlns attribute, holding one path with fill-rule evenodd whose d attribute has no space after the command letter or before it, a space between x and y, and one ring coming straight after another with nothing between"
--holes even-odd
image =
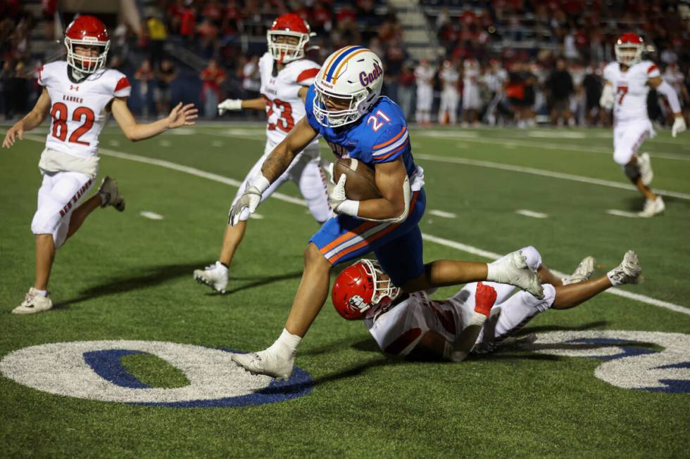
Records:
<instances>
[{"instance_id":1,"label":"white jersey and pants of player number 82","mask_svg":"<svg viewBox=\"0 0 690 459\"><path fill-rule=\"evenodd\" d=\"M107 69L74 83L63 60L44 65L38 83L50 96L51 124L39 162L43 183L31 231L52 234L60 247L73 210L98 174L98 137L108 117L106 106L115 97L129 96L131 87L125 75Z\"/></svg>"}]
</instances>

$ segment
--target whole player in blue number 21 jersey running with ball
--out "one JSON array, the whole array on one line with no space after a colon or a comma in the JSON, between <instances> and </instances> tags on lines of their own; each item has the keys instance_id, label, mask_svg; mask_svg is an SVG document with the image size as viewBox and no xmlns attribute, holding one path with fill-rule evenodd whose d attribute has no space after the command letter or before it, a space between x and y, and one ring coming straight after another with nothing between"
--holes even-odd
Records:
<instances>
[{"instance_id":1,"label":"whole player in blue number 21 jersey running with ball","mask_svg":"<svg viewBox=\"0 0 690 459\"><path fill-rule=\"evenodd\" d=\"M394 285L405 292L491 280L544 297L538 276L529 270L520 252L491 264L422 262L418 224L426 203L424 171L413 160L401 109L380 96L382 84L381 60L369 49L346 46L329 56L307 93L306 117L272 150L261 174L247 184L230 211L231 224L237 223L244 209L254 212L261 194L319 134L337 157L355 158L373 167L382 195L349 200L345 174L341 175L329 196L337 216L309 240L302 280L282 334L268 349L233 354L233 360L252 373L290 377L297 345L328 295L331 267L368 252L374 252Z\"/></svg>"}]
</instances>

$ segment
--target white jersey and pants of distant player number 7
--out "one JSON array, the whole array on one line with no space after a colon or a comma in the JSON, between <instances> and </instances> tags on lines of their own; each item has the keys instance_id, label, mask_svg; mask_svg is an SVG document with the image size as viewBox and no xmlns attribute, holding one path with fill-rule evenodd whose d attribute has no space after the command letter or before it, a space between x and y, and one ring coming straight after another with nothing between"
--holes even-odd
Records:
<instances>
[{"instance_id":1,"label":"white jersey and pants of distant player number 7","mask_svg":"<svg viewBox=\"0 0 690 459\"><path fill-rule=\"evenodd\" d=\"M647 138L655 135L647 115L647 80L660 77L658 67L649 60L628 67L612 62L604 68L604 79L613 86L613 159L621 165L630 161Z\"/></svg>"}]
</instances>

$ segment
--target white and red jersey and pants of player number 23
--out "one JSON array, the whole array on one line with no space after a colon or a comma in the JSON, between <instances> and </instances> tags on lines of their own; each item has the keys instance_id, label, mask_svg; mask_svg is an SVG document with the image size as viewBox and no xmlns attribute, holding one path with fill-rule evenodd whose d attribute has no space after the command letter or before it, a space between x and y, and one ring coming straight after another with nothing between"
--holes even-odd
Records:
<instances>
[{"instance_id":1,"label":"white and red jersey and pants of player number 23","mask_svg":"<svg viewBox=\"0 0 690 459\"><path fill-rule=\"evenodd\" d=\"M261 95L266 101L266 146L263 156L254 164L244 182L237 190L232 204L236 202L246 188L246 183L261 174L261 166L278 143L282 142L294 124L302 119L306 112L304 103L299 97L299 90L304 86L311 86L320 66L307 59L291 60L285 64L280 72L273 76L275 60L270 53L265 53L259 59L261 75ZM294 181L307 202L309 212L317 221L326 221L331 216L328 206L325 177L320 169L320 153L318 138L315 138L307 148L302 150L294 159L289 169L285 171L268 190L265 190L261 200L272 195L285 181ZM245 210L240 220L249 218Z\"/></svg>"}]
</instances>

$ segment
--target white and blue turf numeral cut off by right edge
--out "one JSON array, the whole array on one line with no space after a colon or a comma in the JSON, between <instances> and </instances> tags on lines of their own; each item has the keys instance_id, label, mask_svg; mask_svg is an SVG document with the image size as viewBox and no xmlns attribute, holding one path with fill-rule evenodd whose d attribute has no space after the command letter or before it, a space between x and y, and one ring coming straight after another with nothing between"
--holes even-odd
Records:
<instances>
[{"instance_id":1,"label":"white and blue turf numeral cut off by right edge","mask_svg":"<svg viewBox=\"0 0 690 459\"><path fill-rule=\"evenodd\" d=\"M540 354L603 360L594 375L616 387L690 393L690 335L591 330L537 336L530 349Z\"/></svg>"}]
</instances>

